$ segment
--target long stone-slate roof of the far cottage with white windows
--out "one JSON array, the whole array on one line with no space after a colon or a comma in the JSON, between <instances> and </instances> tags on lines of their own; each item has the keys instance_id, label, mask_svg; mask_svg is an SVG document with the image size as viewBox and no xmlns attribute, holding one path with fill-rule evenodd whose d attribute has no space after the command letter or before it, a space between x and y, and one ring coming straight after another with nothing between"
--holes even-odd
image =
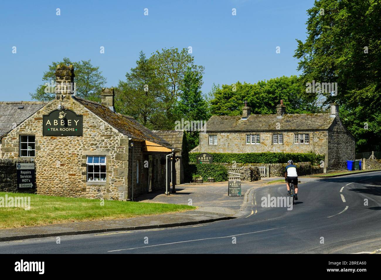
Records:
<instances>
[{"instance_id":1,"label":"long stone-slate roof of the far cottage with white windows","mask_svg":"<svg viewBox=\"0 0 381 280\"><path fill-rule=\"evenodd\" d=\"M242 116L212 116L207 124L207 132L218 131L269 131L277 130L326 130L335 118L330 114L283 114L277 118L271 115L249 115L246 120ZM278 129L279 130L279 129Z\"/></svg>"}]
</instances>

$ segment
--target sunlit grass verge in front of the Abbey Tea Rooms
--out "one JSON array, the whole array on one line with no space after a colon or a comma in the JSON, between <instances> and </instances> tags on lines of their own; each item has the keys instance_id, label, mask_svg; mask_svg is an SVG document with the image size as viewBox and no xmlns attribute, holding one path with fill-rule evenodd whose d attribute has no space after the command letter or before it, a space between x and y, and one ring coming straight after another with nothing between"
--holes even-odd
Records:
<instances>
[{"instance_id":1,"label":"sunlit grass verge in front of the Abbey Tea Rooms","mask_svg":"<svg viewBox=\"0 0 381 280\"><path fill-rule=\"evenodd\" d=\"M5 207L6 195L8 207ZM26 205L23 208L10 207L10 197L13 199L15 197L30 197L30 210L25 210ZM0 192L0 229L94 219L122 219L181 212L195 208L194 206L179 204L117 200L104 200L104 205L101 206L101 201L96 199Z\"/></svg>"}]
</instances>

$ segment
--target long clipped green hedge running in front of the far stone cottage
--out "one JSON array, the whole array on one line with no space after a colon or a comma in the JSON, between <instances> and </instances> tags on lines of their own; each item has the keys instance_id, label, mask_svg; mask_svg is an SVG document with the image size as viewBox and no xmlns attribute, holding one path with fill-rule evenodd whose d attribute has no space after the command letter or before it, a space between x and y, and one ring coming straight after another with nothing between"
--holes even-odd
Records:
<instances>
[{"instance_id":1,"label":"long clipped green hedge running in front of the far stone cottage","mask_svg":"<svg viewBox=\"0 0 381 280\"><path fill-rule=\"evenodd\" d=\"M196 157L200 153L189 153L189 162L195 163ZM213 162L218 163L287 163L288 160L293 162L311 162L312 165L320 163L324 160L324 155L308 153L245 153L245 154L229 154L229 153L209 153L213 156Z\"/></svg>"}]
</instances>

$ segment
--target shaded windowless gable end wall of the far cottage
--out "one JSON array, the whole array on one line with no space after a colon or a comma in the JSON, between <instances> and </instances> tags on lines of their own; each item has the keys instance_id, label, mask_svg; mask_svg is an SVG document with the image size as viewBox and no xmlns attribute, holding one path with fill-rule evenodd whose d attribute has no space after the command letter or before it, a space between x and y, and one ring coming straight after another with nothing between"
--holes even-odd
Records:
<instances>
[{"instance_id":1,"label":"shaded windowless gable end wall of the far cottage","mask_svg":"<svg viewBox=\"0 0 381 280\"><path fill-rule=\"evenodd\" d=\"M327 171L346 170L347 160L355 159L355 139L336 116L328 130Z\"/></svg>"}]
</instances>

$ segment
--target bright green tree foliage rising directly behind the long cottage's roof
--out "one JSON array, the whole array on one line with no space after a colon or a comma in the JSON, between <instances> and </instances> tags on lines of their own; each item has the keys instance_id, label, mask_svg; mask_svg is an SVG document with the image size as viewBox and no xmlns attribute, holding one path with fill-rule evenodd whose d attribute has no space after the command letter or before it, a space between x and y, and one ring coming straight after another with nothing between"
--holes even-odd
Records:
<instances>
[{"instance_id":1,"label":"bright green tree foliage rising directly behind the long cottage's roof","mask_svg":"<svg viewBox=\"0 0 381 280\"><path fill-rule=\"evenodd\" d=\"M283 99L289 114L306 113L312 107L303 94L298 77L280 77L255 84L237 82L233 85L214 86L211 112L214 115L241 115L244 101L251 114L275 114L276 105Z\"/></svg>"}]
</instances>

